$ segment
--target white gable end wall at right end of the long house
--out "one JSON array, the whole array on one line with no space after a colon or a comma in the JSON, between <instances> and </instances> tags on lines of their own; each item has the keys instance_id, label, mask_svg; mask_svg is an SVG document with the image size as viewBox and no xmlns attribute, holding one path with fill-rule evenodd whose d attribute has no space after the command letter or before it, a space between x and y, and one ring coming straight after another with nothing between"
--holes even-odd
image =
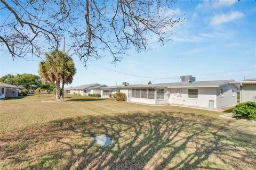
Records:
<instances>
[{"instance_id":1,"label":"white gable end wall at right end of the long house","mask_svg":"<svg viewBox=\"0 0 256 170\"><path fill-rule=\"evenodd\" d=\"M220 95L220 90L223 89L223 96ZM233 96L232 90L235 91ZM237 104L237 88L232 84L226 84L217 88L217 107L233 106Z\"/></svg>"}]
</instances>

